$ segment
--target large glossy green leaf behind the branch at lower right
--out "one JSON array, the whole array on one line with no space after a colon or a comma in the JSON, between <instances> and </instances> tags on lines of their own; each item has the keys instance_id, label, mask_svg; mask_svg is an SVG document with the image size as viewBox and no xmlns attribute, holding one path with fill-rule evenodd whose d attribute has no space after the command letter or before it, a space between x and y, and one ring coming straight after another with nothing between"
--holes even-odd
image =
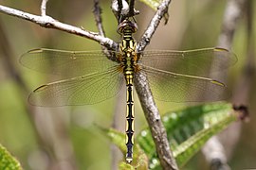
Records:
<instances>
[{"instance_id":1,"label":"large glossy green leaf behind the branch at lower right","mask_svg":"<svg viewBox=\"0 0 256 170\"><path fill-rule=\"evenodd\" d=\"M229 103L214 103L168 112L162 120L174 158L178 166L183 166L211 136L228 127L237 116ZM158 169L155 144L148 128L139 133L137 142L150 159L150 168Z\"/></svg>"}]
</instances>

